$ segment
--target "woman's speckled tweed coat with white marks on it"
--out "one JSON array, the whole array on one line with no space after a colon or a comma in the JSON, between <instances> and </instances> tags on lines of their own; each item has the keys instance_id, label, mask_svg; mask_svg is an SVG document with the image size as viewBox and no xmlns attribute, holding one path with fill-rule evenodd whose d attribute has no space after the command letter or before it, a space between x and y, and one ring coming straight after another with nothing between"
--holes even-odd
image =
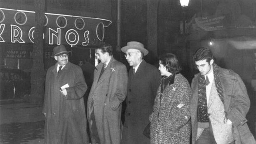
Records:
<instances>
[{"instance_id":1,"label":"woman's speckled tweed coat with white marks on it","mask_svg":"<svg viewBox=\"0 0 256 144\"><path fill-rule=\"evenodd\" d=\"M157 90L151 121L151 144L190 144L189 102L192 91L184 76L176 74L161 96ZM160 103L161 97L161 103Z\"/></svg>"}]
</instances>

